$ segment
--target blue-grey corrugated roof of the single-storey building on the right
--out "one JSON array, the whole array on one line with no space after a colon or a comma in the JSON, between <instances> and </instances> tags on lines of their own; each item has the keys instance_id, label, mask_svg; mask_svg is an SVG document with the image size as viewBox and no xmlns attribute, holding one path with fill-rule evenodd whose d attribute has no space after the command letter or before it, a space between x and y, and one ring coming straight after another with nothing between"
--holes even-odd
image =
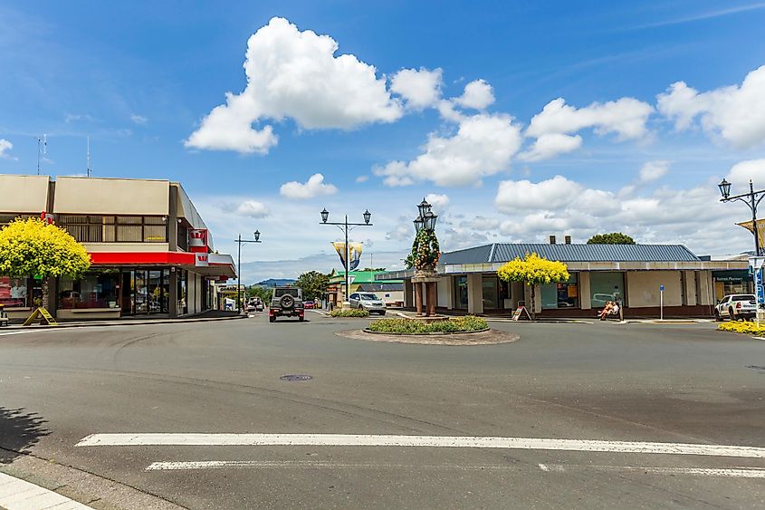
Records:
<instances>
[{"instance_id":1,"label":"blue-grey corrugated roof of the single-storey building on the right","mask_svg":"<svg viewBox=\"0 0 765 510\"><path fill-rule=\"evenodd\" d=\"M546 245L543 243L496 243L445 253L441 264L507 262L535 253L560 262L698 262L684 245Z\"/></svg>"}]
</instances>

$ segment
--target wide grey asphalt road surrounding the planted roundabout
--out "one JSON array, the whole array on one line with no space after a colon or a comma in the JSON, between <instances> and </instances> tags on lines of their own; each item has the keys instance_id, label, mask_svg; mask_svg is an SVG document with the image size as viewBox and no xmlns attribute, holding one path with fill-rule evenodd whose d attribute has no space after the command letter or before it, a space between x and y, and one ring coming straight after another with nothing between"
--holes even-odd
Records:
<instances>
[{"instance_id":1,"label":"wide grey asphalt road surrounding the planted roundabout","mask_svg":"<svg viewBox=\"0 0 765 510\"><path fill-rule=\"evenodd\" d=\"M711 323L493 322L521 339L425 346L341 338L364 321L310 319L0 330L0 471L101 508L765 506L765 458L608 446L765 447L765 342ZM216 444L75 446L112 433ZM220 434L575 441L244 446Z\"/></svg>"}]
</instances>

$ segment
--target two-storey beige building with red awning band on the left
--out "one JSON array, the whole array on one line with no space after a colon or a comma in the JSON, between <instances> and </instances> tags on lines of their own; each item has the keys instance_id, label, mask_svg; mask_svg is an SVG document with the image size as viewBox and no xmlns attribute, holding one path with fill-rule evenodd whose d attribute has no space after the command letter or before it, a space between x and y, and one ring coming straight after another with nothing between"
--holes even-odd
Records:
<instances>
[{"instance_id":1,"label":"two-storey beige building with red awning band on the left","mask_svg":"<svg viewBox=\"0 0 765 510\"><path fill-rule=\"evenodd\" d=\"M211 282L236 274L177 182L126 178L0 175L0 226L47 213L91 255L78 280L49 280L59 320L126 315L182 317L214 307ZM0 276L0 303L25 317L42 281Z\"/></svg>"}]
</instances>

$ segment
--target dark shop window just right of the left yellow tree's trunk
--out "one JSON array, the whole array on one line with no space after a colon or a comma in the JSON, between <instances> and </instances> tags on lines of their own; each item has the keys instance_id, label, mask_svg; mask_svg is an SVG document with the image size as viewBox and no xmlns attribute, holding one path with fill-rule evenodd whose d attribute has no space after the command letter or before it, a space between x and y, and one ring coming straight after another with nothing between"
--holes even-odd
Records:
<instances>
[{"instance_id":1,"label":"dark shop window just right of the left yellow tree's trunk","mask_svg":"<svg viewBox=\"0 0 765 510\"><path fill-rule=\"evenodd\" d=\"M59 279L59 308L118 308L120 273L83 274L79 280Z\"/></svg>"}]
</instances>

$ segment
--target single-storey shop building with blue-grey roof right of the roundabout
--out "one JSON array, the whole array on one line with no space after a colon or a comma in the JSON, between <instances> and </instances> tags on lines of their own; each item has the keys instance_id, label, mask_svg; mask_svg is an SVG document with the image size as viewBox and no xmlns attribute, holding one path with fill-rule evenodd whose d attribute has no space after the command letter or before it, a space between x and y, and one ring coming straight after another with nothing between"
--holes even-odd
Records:
<instances>
[{"instance_id":1,"label":"single-storey shop building with blue-grey roof right of the roundabout","mask_svg":"<svg viewBox=\"0 0 765 510\"><path fill-rule=\"evenodd\" d=\"M683 245L505 244L445 253L436 268L437 307L442 311L510 314L531 300L529 285L504 282L497 270L515 257L536 253L569 268L569 281L535 288L540 317L588 317L607 301L624 304L627 317L658 316L664 287L665 315L712 316L712 274L741 274L746 260L703 260ZM722 274L722 273L721 273ZM378 274L403 279L405 305L414 304L413 270Z\"/></svg>"}]
</instances>

